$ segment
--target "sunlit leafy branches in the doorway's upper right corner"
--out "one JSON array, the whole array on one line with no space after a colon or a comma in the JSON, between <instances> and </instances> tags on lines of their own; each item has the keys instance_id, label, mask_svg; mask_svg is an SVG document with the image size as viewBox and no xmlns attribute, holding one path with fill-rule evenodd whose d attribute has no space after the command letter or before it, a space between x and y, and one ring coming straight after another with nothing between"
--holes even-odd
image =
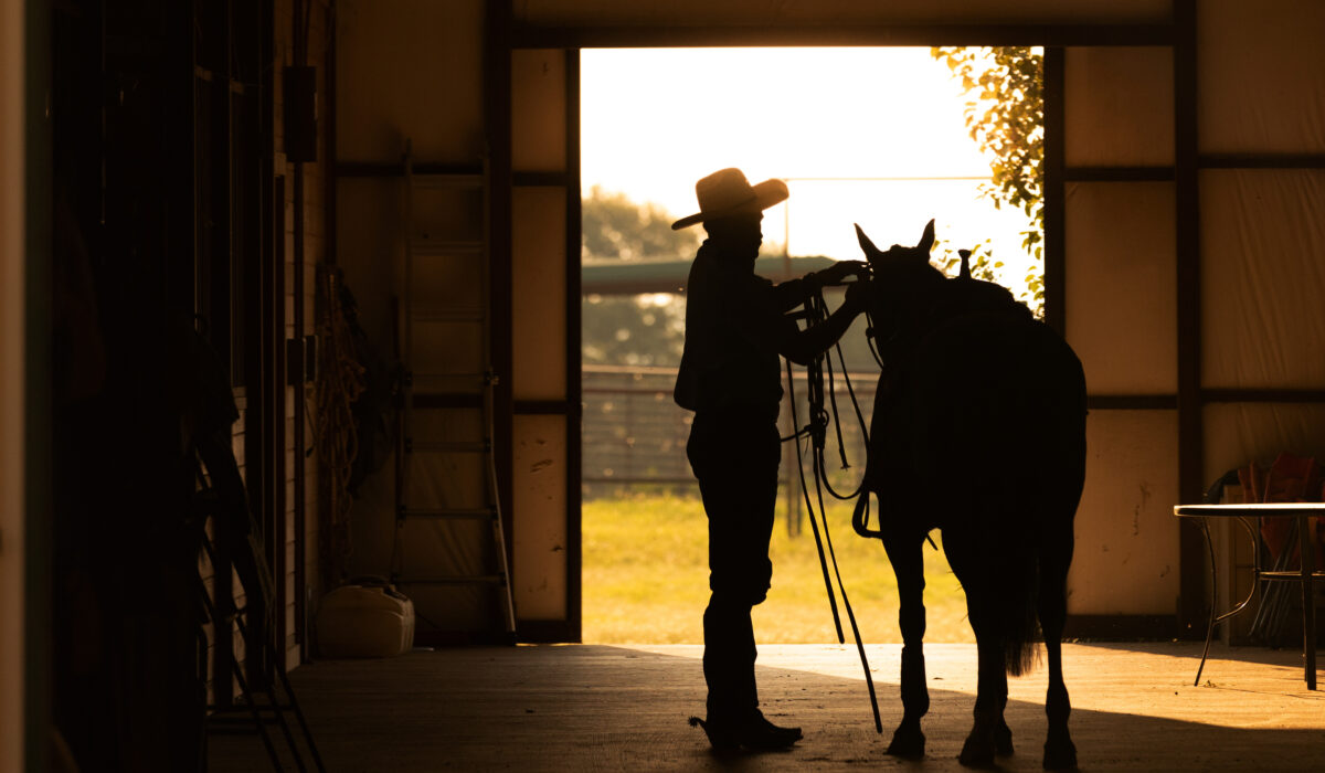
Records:
<instances>
[{"instance_id":1,"label":"sunlit leafy branches in the doorway's upper right corner","mask_svg":"<svg viewBox=\"0 0 1325 773\"><path fill-rule=\"evenodd\" d=\"M994 203L1016 207L1031 221L1022 247L1034 259L1027 272L1028 301L1036 313L1044 304L1044 57L1030 46L934 48L966 91L966 127L990 159L992 174L980 194ZM983 259L983 260L980 260ZM988 255L973 256L973 272L986 268ZM995 267L999 264L994 264Z\"/></svg>"}]
</instances>

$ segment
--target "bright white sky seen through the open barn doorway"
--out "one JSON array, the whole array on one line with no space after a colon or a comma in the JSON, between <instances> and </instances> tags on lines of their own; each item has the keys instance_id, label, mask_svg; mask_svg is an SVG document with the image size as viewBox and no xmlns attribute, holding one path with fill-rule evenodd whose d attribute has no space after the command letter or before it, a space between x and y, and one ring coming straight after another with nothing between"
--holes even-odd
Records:
<instances>
[{"instance_id":1,"label":"bright white sky seen through the open barn doorway","mask_svg":"<svg viewBox=\"0 0 1325 773\"><path fill-rule=\"evenodd\" d=\"M977 196L990 167L966 101L928 48L586 49L582 184L681 217L696 180L734 166L788 182L763 231L791 255L857 260L852 223L886 249L933 217L954 249L992 239L1002 280L1019 282L1028 220Z\"/></svg>"}]
</instances>

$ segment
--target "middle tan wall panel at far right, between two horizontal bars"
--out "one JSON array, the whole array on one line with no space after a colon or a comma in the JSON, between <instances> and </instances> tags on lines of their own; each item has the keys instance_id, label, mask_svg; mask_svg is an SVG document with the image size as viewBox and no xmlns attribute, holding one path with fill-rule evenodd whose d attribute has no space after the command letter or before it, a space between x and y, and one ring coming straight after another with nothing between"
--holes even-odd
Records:
<instances>
[{"instance_id":1,"label":"middle tan wall panel at far right, between two horizontal bars","mask_svg":"<svg viewBox=\"0 0 1325 773\"><path fill-rule=\"evenodd\" d=\"M1325 386L1325 171L1200 176L1202 386Z\"/></svg>"}]
</instances>

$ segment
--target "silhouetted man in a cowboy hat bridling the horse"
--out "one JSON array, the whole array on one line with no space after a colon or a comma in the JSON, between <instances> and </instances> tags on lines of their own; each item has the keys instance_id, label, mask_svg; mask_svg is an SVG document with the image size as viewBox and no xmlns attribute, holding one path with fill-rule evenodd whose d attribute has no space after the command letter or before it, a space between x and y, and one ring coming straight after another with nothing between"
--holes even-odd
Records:
<instances>
[{"instance_id":1,"label":"silhouetted man in a cowboy hat bridling the horse","mask_svg":"<svg viewBox=\"0 0 1325 773\"><path fill-rule=\"evenodd\" d=\"M709 589L704 611L704 676L714 749L774 749L800 739L763 717L755 689L755 642L750 609L768 593L768 537L778 499L782 402L779 354L804 365L832 346L864 308L848 288L827 322L802 331L787 312L810 290L861 270L843 261L800 280L774 285L754 273L763 239L763 209L786 200L782 180L751 186L735 168L717 171L696 187L700 212L672 228L704 223L686 284L685 351L676 402L694 411L686 456L700 481L709 517Z\"/></svg>"}]
</instances>

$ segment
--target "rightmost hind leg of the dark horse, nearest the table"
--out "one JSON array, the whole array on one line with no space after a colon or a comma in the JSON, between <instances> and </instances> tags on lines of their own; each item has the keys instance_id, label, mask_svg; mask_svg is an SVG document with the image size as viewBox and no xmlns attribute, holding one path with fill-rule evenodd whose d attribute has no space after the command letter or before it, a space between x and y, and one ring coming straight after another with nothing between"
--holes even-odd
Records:
<instances>
[{"instance_id":1,"label":"rightmost hind leg of the dark horse, nearest the table","mask_svg":"<svg viewBox=\"0 0 1325 773\"><path fill-rule=\"evenodd\" d=\"M1044 713L1049 720L1049 732L1044 741L1045 770L1072 770L1077 764L1076 745L1068 732L1072 703L1063 682L1063 624L1067 619L1067 574L1072 564L1071 529L1068 524L1065 541L1059 540L1059 544L1051 548L1057 554L1044 556L1040 562L1039 615L1049 664L1049 688L1044 699Z\"/></svg>"}]
</instances>

